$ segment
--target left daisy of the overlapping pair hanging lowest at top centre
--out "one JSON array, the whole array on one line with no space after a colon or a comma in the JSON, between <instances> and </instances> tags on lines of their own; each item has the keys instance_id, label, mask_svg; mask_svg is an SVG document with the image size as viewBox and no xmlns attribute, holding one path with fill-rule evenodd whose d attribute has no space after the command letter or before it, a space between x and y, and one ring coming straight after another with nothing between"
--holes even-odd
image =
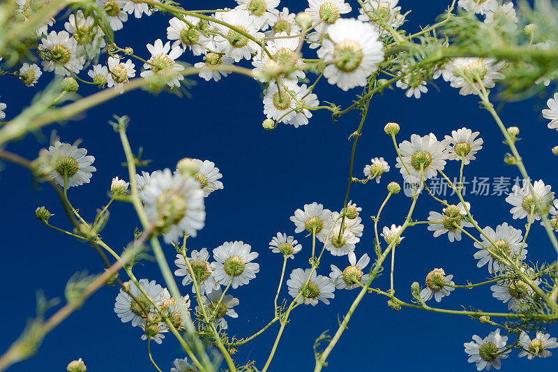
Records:
<instances>
[{"instance_id":1,"label":"left daisy of the overlapping pair hanging lowest at top centre","mask_svg":"<svg viewBox=\"0 0 558 372\"><path fill-rule=\"evenodd\" d=\"M269 84L264 95L264 114L269 119L286 123L296 117L295 98L300 95L301 88L290 80L284 80L283 85L278 89L275 82Z\"/></svg>"}]
</instances>

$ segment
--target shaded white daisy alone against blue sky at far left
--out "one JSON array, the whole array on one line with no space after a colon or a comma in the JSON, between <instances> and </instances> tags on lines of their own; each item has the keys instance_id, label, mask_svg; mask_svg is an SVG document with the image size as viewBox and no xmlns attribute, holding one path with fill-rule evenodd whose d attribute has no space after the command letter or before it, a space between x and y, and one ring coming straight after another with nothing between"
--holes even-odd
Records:
<instances>
[{"instance_id":1,"label":"shaded white daisy alone against blue sky at far left","mask_svg":"<svg viewBox=\"0 0 558 372\"><path fill-rule=\"evenodd\" d=\"M65 142L54 142L54 146L43 150L41 158L40 169L49 172L48 177L62 187L65 177L67 188L89 184L91 172L97 170L91 165L95 158L87 155L86 149Z\"/></svg>"}]
</instances>

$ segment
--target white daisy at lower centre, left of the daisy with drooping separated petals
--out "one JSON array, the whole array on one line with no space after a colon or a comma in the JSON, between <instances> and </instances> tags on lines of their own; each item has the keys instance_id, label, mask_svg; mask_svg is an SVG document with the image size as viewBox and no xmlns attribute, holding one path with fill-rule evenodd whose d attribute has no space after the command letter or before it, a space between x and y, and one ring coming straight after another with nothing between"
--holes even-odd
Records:
<instances>
[{"instance_id":1,"label":"white daisy at lower centre, left of the daisy with drooping separated petals","mask_svg":"<svg viewBox=\"0 0 558 372\"><path fill-rule=\"evenodd\" d=\"M316 271L312 271L312 275L310 275L310 271L312 269L294 269L292 271L290 279L287 281L289 295L296 298L300 293L301 296L297 301L304 302L306 305L316 306L319 301L329 305L329 299L335 297L333 295L335 285L328 277L317 275ZM309 276L310 280L306 283Z\"/></svg>"}]
</instances>

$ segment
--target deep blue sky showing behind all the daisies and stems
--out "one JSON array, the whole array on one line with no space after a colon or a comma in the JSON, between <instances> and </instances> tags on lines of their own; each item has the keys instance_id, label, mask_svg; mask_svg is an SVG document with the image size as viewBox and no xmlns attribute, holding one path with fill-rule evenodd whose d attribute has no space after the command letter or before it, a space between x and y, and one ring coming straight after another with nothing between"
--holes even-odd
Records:
<instances>
[{"instance_id":1,"label":"deep blue sky showing behind all the daisies and stems","mask_svg":"<svg viewBox=\"0 0 558 372\"><path fill-rule=\"evenodd\" d=\"M193 1L181 3L188 8L199 8L192 5ZM215 4L214 7L234 6L233 1L211 3ZM351 3L356 8L356 2ZM447 3L440 0L428 1L428 4L400 1L404 11L413 8L405 29L414 32L419 30L419 24L432 24ZM283 1L283 5L289 6L295 13L306 8L303 1ZM203 4L204 8L207 6ZM58 27L61 26L59 21ZM122 31L116 32L117 43L134 47L137 54L149 57L145 43L153 43L156 38L166 40L167 17L153 15L139 21L130 18L125 26ZM310 51L305 55L313 58L314 53ZM192 63L200 60L190 54L184 59ZM136 64L138 73L139 67L140 64ZM38 86L44 87L51 77L52 73L45 73ZM289 216L303 204L316 201L332 210L342 207L351 149L347 137L356 130L360 117L358 112L352 112L332 124L328 112L315 112L308 126L296 129L280 124L275 131L266 132L261 126L264 116L259 84L236 75L218 84L207 83L197 77L194 80L198 84L191 89L191 98L164 93L153 96L144 91L133 91L89 110L80 120L27 135L7 149L35 158L39 149L47 146L51 131L56 131L66 142L82 138L82 147L96 157L93 165L98 171L93 174L91 184L73 188L68 195L82 215L90 220L96 208L107 202L112 177L128 178L126 168L121 166L125 159L119 137L107 124L112 114L130 116L128 135L133 149L143 146L144 158L153 161L146 170L172 168L185 156L215 162L223 173L225 189L206 198L205 228L196 239L189 239L188 242L190 248L211 249L223 241L243 240L259 252L257 262L261 271L255 280L232 292L240 299L240 305L236 307L239 318L229 320L229 335L236 334L240 338L253 334L273 317L272 303L282 258L269 250L271 237L278 231L294 235L294 225ZM466 177L502 175L513 178L519 174L515 168L503 164L502 159L508 149L502 144L502 135L488 113L478 107L478 98L459 96L457 89L451 89L441 80L436 84L439 86L429 85L428 94L420 100L406 98L401 89L386 91L384 96L372 99L356 151L355 174L362 177L364 165L375 156L384 156L392 169L382 177L379 185L369 182L352 186L350 198L363 207L361 216L365 223L364 235L356 247L359 257L366 252L373 255L373 225L369 216L377 213L386 195L386 184L401 181L400 173L393 168L393 145L383 133L386 122L396 121L401 125L399 141L409 140L412 133L425 135L431 131L441 139L462 126L480 131L485 140L484 148L477 154L477 160L465 168ZM0 101L8 103L7 118L20 112L36 91L24 87L13 77L3 76ZM86 96L94 91L94 87L82 87L80 93ZM340 89L322 80L316 92L321 102L332 101L346 107L353 95L361 91L353 89L350 94L343 94ZM542 119L541 109L552 93L549 90L529 101L507 104L502 111L506 126L516 125L521 129L522 140L518 142L518 147L531 177L544 177L547 184L556 184L557 181L554 172L550 172L555 169L550 147L557 144L558 135L546 128L547 121ZM3 319L0 350L8 348L19 336L26 320L33 316L38 288L48 298L63 297L64 285L76 271L86 269L97 273L103 269L98 255L89 245L68 239L36 221L34 210L45 205L55 214L51 219L54 225L70 228L54 192L45 184L34 188L27 170L11 164L3 166L0 173L3 253L0 283L3 283L4 295L0 310ZM446 174L458 174L458 162L451 162L446 167ZM504 197L468 196L473 214L481 225L490 224L495 228L495 225L507 221L515 228L523 228L525 219L511 219L508 213L510 206L504 202ZM382 214L380 225L400 225L408 207L408 198L402 193L395 195ZM439 209L434 200L421 198L414 218L424 220L428 211ZM132 239L138 221L128 204L116 203L110 211L110 222L103 230L103 237L116 251L120 251ZM552 248L538 224L534 225L529 238L530 260L554 260ZM310 238L299 234L296 239L303 244L303 251L294 261L289 260L287 277L292 269L308 265ZM447 274L454 274L454 281L458 284L467 280L482 281L488 272L485 267L476 268L476 260L472 258L475 251L468 239L449 244L446 235L435 239L424 225L409 228L397 251L397 294L402 299L409 299L409 285L413 281L423 283L425 274L435 267L444 267ZM168 246L166 253L172 263L174 248ZM333 258L326 253L318 274L327 276L331 263L344 267L347 258ZM389 261L386 264L389 265ZM153 262L137 265L134 271L138 278L156 279L163 284L163 278ZM387 273L379 277L374 285L389 288ZM190 293L190 287L183 288L183 292ZM117 288L99 290L80 311L46 336L35 357L16 364L10 371L64 371L70 360L79 357L87 362L89 371L153 370L147 359L146 343L140 340L141 330L129 323L121 323L112 310L117 293ZM356 294L357 290L338 290L329 306L319 304L297 308L285 329L270 371L311 370L314 366L312 344L315 338L326 329L330 329L330 334L335 332L338 318L342 317ZM289 298L286 285L281 295ZM440 306L458 309L462 305L485 311L506 311L506 305L492 299L488 287L475 291L456 290L450 297L444 298ZM278 325L274 325L256 341L239 348L234 359L240 364L255 359L261 369L277 329ZM395 313L386 306L386 298L368 295L354 313L349 329L333 350L325 370L393 368L401 371L474 371L475 366L467 364L462 344L470 341L473 334L484 337L492 330L491 326L463 316L407 308ZM552 329L551 333L554 333ZM167 336L163 345L153 344L152 349L163 371L169 371L175 358L183 357L179 344L172 336ZM519 359L517 352L503 361L505 371L555 365L553 358L528 361L527 358Z\"/></svg>"}]
</instances>

